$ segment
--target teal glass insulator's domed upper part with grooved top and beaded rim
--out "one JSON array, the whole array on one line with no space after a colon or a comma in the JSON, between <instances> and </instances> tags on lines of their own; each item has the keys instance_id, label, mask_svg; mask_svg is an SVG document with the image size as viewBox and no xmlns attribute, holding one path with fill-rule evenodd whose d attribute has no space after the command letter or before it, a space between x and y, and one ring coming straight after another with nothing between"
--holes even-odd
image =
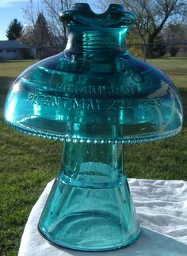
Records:
<instances>
[{"instance_id":1,"label":"teal glass insulator's domed upper part with grooved top and beaded rim","mask_svg":"<svg viewBox=\"0 0 187 256\"><path fill-rule=\"evenodd\" d=\"M116 5L94 14L78 4L60 18L69 32L67 48L32 65L13 83L7 123L25 134L61 141L134 143L181 130L174 84L125 50L133 14Z\"/></svg>"}]
</instances>

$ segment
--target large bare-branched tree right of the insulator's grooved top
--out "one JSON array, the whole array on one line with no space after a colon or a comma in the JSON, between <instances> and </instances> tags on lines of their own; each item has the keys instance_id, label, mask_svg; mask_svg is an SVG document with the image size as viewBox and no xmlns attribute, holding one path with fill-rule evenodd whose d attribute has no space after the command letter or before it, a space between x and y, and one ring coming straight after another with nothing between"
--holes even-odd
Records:
<instances>
[{"instance_id":1,"label":"large bare-branched tree right of the insulator's grooved top","mask_svg":"<svg viewBox=\"0 0 187 256\"><path fill-rule=\"evenodd\" d=\"M179 22L186 17L186 0L101 0L101 8L110 2L124 5L135 13L136 29L144 43L153 44L164 25L172 19Z\"/></svg>"}]
</instances>

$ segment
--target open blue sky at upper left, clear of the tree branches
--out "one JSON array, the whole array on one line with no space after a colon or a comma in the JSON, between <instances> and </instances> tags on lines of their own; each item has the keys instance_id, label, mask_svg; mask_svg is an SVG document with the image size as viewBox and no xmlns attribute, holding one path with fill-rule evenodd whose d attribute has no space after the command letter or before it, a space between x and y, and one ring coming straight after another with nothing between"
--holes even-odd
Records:
<instances>
[{"instance_id":1,"label":"open blue sky at upper left, clear of the tree branches","mask_svg":"<svg viewBox=\"0 0 187 256\"><path fill-rule=\"evenodd\" d=\"M40 0L33 0L33 2L37 5ZM97 11L93 6L93 2L95 1L88 0L87 2L90 3L93 10ZM26 25L22 9L25 9L28 5L29 0L0 0L0 41L7 40L6 29L14 18L21 21L22 25Z\"/></svg>"}]
</instances>

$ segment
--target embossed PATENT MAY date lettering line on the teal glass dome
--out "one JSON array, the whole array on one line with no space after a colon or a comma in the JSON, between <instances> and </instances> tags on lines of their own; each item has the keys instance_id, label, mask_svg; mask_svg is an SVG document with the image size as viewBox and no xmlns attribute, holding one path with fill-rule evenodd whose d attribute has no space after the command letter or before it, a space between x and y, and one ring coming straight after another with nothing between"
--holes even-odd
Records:
<instances>
[{"instance_id":1,"label":"embossed PATENT MAY date lettering line on the teal glass dome","mask_svg":"<svg viewBox=\"0 0 187 256\"><path fill-rule=\"evenodd\" d=\"M71 99L41 93L29 93L28 103L44 107L87 111L118 111L156 109L162 107L160 99Z\"/></svg>"}]
</instances>

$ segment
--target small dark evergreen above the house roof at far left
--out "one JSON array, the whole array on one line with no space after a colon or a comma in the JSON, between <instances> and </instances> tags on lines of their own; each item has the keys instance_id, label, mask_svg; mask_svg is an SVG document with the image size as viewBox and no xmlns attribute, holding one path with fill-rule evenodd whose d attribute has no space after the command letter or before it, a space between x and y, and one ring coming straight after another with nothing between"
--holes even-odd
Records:
<instances>
[{"instance_id":1,"label":"small dark evergreen above the house roof at far left","mask_svg":"<svg viewBox=\"0 0 187 256\"><path fill-rule=\"evenodd\" d=\"M9 40L16 40L17 38L21 37L22 33L23 26L21 25L21 22L17 21L17 18L14 18L6 30L6 37L8 37Z\"/></svg>"}]
</instances>

